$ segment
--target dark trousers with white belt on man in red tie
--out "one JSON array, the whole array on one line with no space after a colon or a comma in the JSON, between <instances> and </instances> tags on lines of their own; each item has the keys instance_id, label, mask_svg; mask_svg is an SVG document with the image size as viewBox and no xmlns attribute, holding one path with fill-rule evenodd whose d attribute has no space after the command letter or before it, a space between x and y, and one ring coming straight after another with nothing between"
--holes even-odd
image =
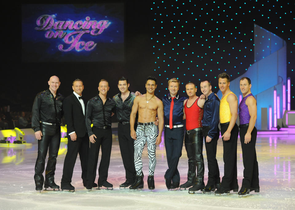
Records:
<instances>
[{"instance_id":1,"label":"dark trousers with white belt on man in red tie","mask_svg":"<svg viewBox=\"0 0 295 210\"><path fill-rule=\"evenodd\" d=\"M170 129L169 127L165 127L164 141L168 164L165 178L171 179L172 182L180 182L180 176L177 166L179 158L182 155L183 138L184 127L175 127L172 129Z\"/></svg>"}]
</instances>

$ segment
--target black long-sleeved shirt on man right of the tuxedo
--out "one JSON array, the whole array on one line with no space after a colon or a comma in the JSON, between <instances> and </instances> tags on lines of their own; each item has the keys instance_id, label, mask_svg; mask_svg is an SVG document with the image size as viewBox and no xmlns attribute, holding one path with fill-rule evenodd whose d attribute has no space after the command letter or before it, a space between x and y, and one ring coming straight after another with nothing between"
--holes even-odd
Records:
<instances>
[{"instance_id":1,"label":"black long-sleeved shirt on man right of the tuxedo","mask_svg":"<svg viewBox=\"0 0 295 210\"><path fill-rule=\"evenodd\" d=\"M93 134L91 123L93 123L93 126L112 126L112 112L116 113L116 104L112 99L107 98L105 103L99 95L90 99L87 103L85 115L88 135Z\"/></svg>"}]
</instances>

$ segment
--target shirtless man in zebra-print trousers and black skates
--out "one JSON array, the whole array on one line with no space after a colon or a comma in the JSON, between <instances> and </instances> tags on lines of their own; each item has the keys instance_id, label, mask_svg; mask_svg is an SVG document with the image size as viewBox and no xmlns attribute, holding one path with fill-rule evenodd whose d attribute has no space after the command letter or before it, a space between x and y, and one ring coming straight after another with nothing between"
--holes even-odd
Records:
<instances>
[{"instance_id":1,"label":"shirtless man in zebra-print trousers and black skates","mask_svg":"<svg viewBox=\"0 0 295 210\"><path fill-rule=\"evenodd\" d=\"M132 111L130 115L130 135L134 139L134 164L136 169L136 181L129 189L142 189L144 187L143 173L142 173L142 151L145 142L148 145L148 158L149 158L149 176L148 176L148 189L155 189L154 171L156 167L156 145L161 143L162 131L164 127L163 118L163 103L155 96L155 89L157 88L157 79L149 76L146 80L145 87L147 93L138 95L133 101ZM134 123L136 113L138 111L138 126L134 130ZM156 116L159 118L159 134L158 128L154 124Z\"/></svg>"}]
</instances>

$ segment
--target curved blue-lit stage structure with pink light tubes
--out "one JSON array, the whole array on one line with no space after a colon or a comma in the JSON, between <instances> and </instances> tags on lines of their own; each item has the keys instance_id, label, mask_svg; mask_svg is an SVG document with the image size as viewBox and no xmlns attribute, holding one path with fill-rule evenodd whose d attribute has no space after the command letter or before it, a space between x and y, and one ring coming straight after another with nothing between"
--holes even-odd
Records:
<instances>
[{"instance_id":1,"label":"curved blue-lit stage structure with pink light tubes","mask_svg":"<svg viewBox=\"0 0 295 210\"><path fill-rule=\"evenodd\" d=\"M230 81L230 90L242 100L240 79L251 79L251 92L257 100L258 130L283 127L284 112L290 110L290 78L287 79L286 42L254 24L254 63L238 78ZM289 92L288 92L289 91ZM222 93L217 93L221 99ZM237 119L238 122L238 119ZM277 128L276 128L277 129Z\"/></svg>"}]
</instances>

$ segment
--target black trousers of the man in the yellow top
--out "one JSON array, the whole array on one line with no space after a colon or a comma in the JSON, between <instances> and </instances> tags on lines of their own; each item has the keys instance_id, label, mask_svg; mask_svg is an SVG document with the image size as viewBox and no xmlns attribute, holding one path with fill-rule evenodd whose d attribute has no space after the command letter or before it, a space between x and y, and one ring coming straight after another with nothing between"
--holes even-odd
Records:
<instances>
[{"instance_id":1,"label":"black trousers of the man in the yellow top","mask_svg":"<svg viewBox=\"0 0 295 210\"><path fill-rule=\"evenodd\" d=\"M220 124L221 135L225 133L229 126ZM223 144L223 162L224 162L224 176L222 177L221 185L225 188L238 189L237 179L237 143L238 143L239 127L235 123L230 132L230 139L224 141Z\"/></svg>"}]
</instances>

